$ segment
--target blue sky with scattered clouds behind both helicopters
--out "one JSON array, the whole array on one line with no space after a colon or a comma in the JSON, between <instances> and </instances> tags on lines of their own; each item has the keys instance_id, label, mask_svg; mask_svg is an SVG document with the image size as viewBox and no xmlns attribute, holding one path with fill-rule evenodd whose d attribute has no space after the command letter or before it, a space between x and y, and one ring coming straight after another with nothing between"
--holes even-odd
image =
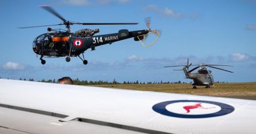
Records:
<instances>
[{"instance_id":1,"label":"blue sky with scattered clouds behind both helicopters","mask_svg":"<svg viewBox=\"0 0 256 134\"><path fill-rule=\"evenodd\" d=\"M18 29L17 27L49 25L61 22L38 7L51 5L66 20L74 22L138 22L138 25L73 25L79 29L100 29L100 34L146 29L144 18L151 16L152 29L161 29L159 41L144 48L133 39L87 50L85 58L46 59L41 65L32 51L37 35L47 27ZM0 0L0 77L58 79L62 76L80 80L185 81L184 74L163 68L186 63L227 64L234 71L213 71L215 81L256 81L256 1L255 0ZM54 29L61 26L52 27ZM179 69L179 68L175 68Z\"/></svg>"}]
</instances>

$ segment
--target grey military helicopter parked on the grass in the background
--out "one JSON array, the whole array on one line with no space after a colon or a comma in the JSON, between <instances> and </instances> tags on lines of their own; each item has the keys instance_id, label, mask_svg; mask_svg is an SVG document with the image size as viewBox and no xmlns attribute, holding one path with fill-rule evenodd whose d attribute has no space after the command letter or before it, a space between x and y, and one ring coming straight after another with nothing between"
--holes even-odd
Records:
<instances>
[{"instance_id":1,"label":"grey military helicopter parked on the grass in the background","mask_svg":"<svg viewBox=\"0 0 256 134\"><path fill-rule=\"evenodd\" d=\"M188 68L190 66L196 66L193 69L189 70ZM205 86L205 88L210 88L214 84L213 75L211 75L211 71L207 70L206 67L211 67L213 69L219 69L222 71L227 71L230 73L233 73L232 71L228 71L225 69L221 69L214 66L231 66L231 65L215 65L215 64L200 64L200 65L192 65L192 63L188 63L186 65L171 65L166 67L183 67L183 69L175 69L175 71L184 71L184 74L186 78L190 78L194 80L194 83L192 84L193 88L196 88L196 86ZM199 68L199 69L198 69ZM192 73L192 71L195 71L198 69L197 73Z\"/></svg>"}]
</instances>

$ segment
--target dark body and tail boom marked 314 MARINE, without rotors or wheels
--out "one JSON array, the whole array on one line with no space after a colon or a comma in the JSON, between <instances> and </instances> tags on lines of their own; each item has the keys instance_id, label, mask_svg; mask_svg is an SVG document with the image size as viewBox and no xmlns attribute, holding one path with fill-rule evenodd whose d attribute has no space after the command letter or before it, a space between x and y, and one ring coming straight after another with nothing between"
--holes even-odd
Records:
<instances>
[{"instance_id":1,"label":"dark body and tail boom marked 314 MARINE, without rotors or wheels","mask_svg":"<svg viewBox=\"0 0 256 134\"><path fill-rule=\"evenodd\" d=\"M128 31L121 29L118 33L95 35L95 31L85 29L84 31L77 31L75 33L56 31L53 33L43 33L35 38L33 41L33 52L41 56L47 57L63 57L63 56L79 56L85 50L91 48L95 50L96 46L102 44L112 44L112 42L121 41L134 37L135 41L140 35L145 35L149 31L147 29L139 31ZM86 33L87 32L87 33Z\"/></svg>"}]
</instances>

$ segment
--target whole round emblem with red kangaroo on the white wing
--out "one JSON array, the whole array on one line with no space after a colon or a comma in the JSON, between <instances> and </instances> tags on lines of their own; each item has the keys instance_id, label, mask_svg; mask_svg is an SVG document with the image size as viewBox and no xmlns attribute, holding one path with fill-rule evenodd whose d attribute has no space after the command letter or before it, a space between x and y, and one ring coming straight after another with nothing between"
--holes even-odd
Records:
<instances>
[{"instance_id":1,"label":"whole round emblem with red kangaroo on the white wing","mask_svg":"<svg viewBox=\"0 0 256 134\"><path fill-rule=\"evenodd\" d=\"M158 103L155 112L176 118L209 118L223 116L234 111L234 107L216 101L175 100Z\"/></svg>"}]
</instances>

